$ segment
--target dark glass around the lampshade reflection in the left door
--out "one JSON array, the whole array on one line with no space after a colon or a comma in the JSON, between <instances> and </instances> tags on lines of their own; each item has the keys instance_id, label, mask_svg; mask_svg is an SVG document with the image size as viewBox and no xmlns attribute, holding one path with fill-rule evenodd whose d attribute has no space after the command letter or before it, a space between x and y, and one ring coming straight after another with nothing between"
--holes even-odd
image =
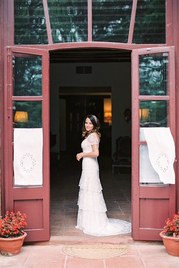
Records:
<instances>
[{"instance_id":1,"label":"dark glass around the lampshade reflection in the left door","mask_svg":"<svg viewBox=\"0 0 179 268\"><path fill-rule=\"evenodd\" d=\"M18 128L42 127L42 101L13 101L13 118L16 111L27 112L27 123L14 123ZM14 121L14 120L13 120Z\"/></svg>"}]
</instances>

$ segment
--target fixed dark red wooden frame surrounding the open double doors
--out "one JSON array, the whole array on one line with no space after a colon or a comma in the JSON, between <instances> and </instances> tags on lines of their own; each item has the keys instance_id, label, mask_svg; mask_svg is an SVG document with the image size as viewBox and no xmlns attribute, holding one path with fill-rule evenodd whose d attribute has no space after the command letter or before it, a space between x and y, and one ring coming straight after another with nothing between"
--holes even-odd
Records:
<instances>
[{"instance_id":1,"label":"fixed dark red wooden frame surrounding the open double doors","mask_svg":"<svg viewBox=\"0 0 179 268\"><path fill-rule=\"evenodd\" d=\"M134 1L136 2L136 1ZM90 2L89 2L90 3ZM4 48L9 46L12 49L27 49L27 53L30 53L33 49L42 49L47 51L61 50L61 49L75 49L75 48L104 48L104 49L119 49L119 50L133 50L139 48L152 48L152 47L164 47L164 46L175 46L175 73L179 77L178 61L179 59L179 2L168 0L166 1L166 44L128 44L124 43L113 43L113 42L92 42L90 39L88 42L77 42L77 43L58 43L48 45L14 45L14 17L12 14L14 6L14 0L2 0L1 1L1 200L2 200L2 213L5 212L5 184L4 184L4 168L6 163L4 158L4 137L5 123L4 123ZM90 15L90 14L89 14ZM90 15L91 16L91 15ZM90 19L90 17L89 17ZM132 27L132 26L131 26ZM131 28L132 30L132 28ZM49 28L48 32L50 34ZM178 34L177 34L178 32ZM131 34L130 34L131 35ZM131 38L130 38L131 39ZM176 88L179 88L179 79L176 79ZM176 90L176 100L178 100L178 91ZM179 125L179 101L176 101L176 137L178 134ZM179 153L178 141L176 140L176 158ZM176 178L177 178L177 165L176 165ZM178 180L179 189L179 180ZM176 189L177 194L177 189ZM177 207L178 204L178 207ZM179 202L176 202L176 212L179 210Z\"/></svg>"}]
</instances>

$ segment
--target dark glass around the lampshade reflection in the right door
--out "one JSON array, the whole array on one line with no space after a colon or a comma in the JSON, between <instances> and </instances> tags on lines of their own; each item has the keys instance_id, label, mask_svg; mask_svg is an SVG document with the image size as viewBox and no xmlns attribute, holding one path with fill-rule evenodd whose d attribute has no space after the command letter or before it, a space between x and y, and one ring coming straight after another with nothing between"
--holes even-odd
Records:
<instances>
[{"instance_id":1,"label":"dark glass around the lampshade reflection in the right door","mask_svg":"<svg viewBox=\"0 0 179 268\"><path fill-rule=\"evenodd\" d=\"M167 120L167 110L168 101L139 101L140 109L148 109L149 111L149 121L160 123L161 127L168 127ZM140 120L140 123L144 124L146 121ZM154 125L149 125L149 127L154 127Z\"/></svg>"}]
</instances>

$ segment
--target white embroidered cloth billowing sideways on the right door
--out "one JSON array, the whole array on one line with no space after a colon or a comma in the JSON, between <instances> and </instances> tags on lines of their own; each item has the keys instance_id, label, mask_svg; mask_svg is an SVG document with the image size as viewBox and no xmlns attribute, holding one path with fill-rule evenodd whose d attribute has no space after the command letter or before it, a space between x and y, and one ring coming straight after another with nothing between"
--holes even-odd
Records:
<instances>
[{"instance_id":1,"label":"white embroidered cloth billowing sideways on the right door","mask_svg":"<svg viewBox=\"0 0 179 268\"><path fill-rule=\"evenodd\" d=\"M160 180L175 184L175 144L169 127L143 128L149 150L150 162Z\"/></svg>"}]
</instances>

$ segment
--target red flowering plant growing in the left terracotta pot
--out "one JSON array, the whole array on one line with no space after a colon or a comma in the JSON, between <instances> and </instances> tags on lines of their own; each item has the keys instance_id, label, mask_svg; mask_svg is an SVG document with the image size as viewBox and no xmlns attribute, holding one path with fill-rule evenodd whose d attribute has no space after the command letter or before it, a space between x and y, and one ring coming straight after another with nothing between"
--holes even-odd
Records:
<instances>
[{"instance_id":1,"label":"red flowering plant growing in the left terracotta pot","mask_svg":"<svg viewBox=\"0 0 179 268\"><path fill-rule=\"evenodd\" d=\"M16 215L9 211L6 212L5 218L0 220L0 237L1 238L14 238L22 236L24 226L27 226L25 221L27 216L21 214L19 211Z\"/></svg>"}]
</instances>

